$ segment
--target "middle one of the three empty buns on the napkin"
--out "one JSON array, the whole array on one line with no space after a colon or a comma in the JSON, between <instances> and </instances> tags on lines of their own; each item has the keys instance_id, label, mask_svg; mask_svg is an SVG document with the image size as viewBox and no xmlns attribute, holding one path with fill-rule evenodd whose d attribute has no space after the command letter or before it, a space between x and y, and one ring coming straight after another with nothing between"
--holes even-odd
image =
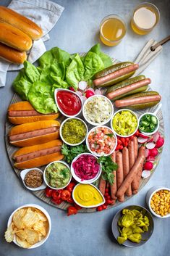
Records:
<instances>
[{"instance_id":1,"label":"middle one of the three empty buns on the napkin","mask_svg":"<svg viewBox=\"0 0 170 256\"><path fill-rule=\"evenodd\" d=\"M32 40L24 32L12 25L0 22L0 42L18 51L28 51Z\"/></svg>"}]
</instances>

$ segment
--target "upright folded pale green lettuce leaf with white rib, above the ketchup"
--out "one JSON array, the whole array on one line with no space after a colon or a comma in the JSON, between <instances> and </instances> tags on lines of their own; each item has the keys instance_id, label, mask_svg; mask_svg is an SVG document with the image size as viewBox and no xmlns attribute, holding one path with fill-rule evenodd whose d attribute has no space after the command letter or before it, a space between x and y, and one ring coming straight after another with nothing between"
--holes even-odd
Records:
<instances>
[{"instance_id":1,"label":"upright folded pale green lettuce leaf with white rib, above the ketchup","mask_svg":"<svg viewBox=\"0 0 170 256\"><path fill-rule=\"evenodd\" d=\"M78 88L78 83L84 80L85 68L82 64L79 54L76 54L72 59L72 62L67 67L66 80L69 86L73 86L75 89Z\"/></svg>"}]
</instances>

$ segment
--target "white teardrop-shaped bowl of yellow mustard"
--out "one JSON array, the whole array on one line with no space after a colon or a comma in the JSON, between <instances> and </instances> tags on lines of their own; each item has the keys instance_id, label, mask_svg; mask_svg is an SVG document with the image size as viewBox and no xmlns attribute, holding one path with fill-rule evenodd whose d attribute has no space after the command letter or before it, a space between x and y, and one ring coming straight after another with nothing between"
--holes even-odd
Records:
<instances>
[{"instance_id":1,"label":"white teardrop-shaped bowl of yellow mustard","mask_svg":"<svg viewBox=\"0 0 170 256\"><path fill-rule=\"evenodd\" d=\"M105 202L102 194L95 186L78 184L73 191L73 199L82 207L95 207Z\"/></svg>"}]
</instances>

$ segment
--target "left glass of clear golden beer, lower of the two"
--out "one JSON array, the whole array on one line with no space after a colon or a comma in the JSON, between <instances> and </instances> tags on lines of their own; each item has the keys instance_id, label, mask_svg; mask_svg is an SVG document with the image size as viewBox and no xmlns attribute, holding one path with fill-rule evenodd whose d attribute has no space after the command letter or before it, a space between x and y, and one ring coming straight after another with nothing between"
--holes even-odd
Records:
<instances>
[{"instance_id":1,"label":"left glass of clear golden beer, lower of the two","mask_svg":"<svg viewBox=\"0 0 170 256\"><path fill-rule=\"evenodd\" d=\"M100 38L106 46L116 46L127 32L127 25L118 15L103 18L100 25Z\"/></svg>"}]
</instances>

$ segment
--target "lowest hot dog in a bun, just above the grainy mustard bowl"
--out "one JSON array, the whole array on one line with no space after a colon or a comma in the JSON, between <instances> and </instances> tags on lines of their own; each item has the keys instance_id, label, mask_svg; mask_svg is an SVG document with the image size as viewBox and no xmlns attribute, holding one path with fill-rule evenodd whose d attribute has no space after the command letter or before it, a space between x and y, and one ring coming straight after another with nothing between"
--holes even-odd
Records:
<instances>
[{"instance_id":1,"label":"lowest hot dog in a bun, just above the grainy mustard bowl","mask_svg":"<svg viewBox=\"0 0 170 256\"><path fill-rule=\"evenodd\" d=\"M18 169L35 168L47 165L49 162L62 160L61 154L62 141L56 139L45 144L35 146L25 146L18 149L14 155L14 167Z\"/></svg>"}]
</instances>

